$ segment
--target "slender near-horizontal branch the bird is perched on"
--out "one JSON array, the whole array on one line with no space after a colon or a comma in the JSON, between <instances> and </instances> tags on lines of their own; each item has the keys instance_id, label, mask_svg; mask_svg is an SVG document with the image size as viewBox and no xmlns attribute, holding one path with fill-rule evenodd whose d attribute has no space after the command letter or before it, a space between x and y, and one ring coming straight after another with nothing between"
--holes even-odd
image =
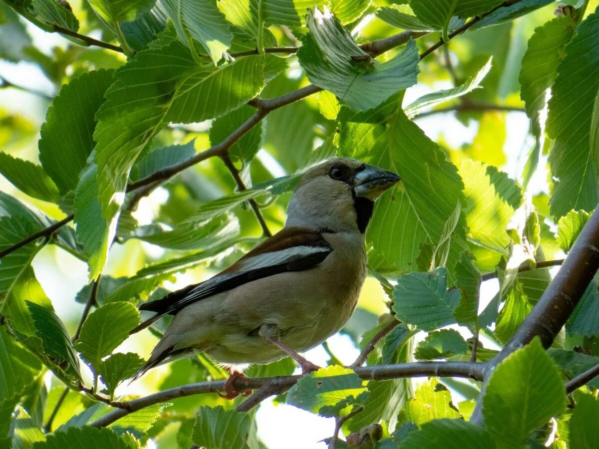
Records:
<instances>
[{"instance_id":1,"label":"slender near-horizontal branch the bird is perched on","mask_svg":"<svg viewBox=\"0 0 599 449\"><path fill-rule=\"evenodd\" d=\"M426 376L463 377L481 380L484 366L484 363L471 362L415 362L398 363L396 365L359 366L353 368L353 370L364 380L389 380ZM272 378L240 377L233 382L233 387L238 392L245 392L247 390L259 389L266 383L270 383L273 389L283 390L293 386L300 377L301 376L299 375ZM110 411L101 418L93 421L90 425L94 427L105 427L129 413L149 407L150 405L171 401L172 399L182 398L183 396L213 393L223 390L224 387L225 380L216 380L187 384L163 390L162 392L154 393L153 395L145 396L144 398L123 402L121 405L126 406L127 409L115 409Z\"/></svg>"}]
</instances>

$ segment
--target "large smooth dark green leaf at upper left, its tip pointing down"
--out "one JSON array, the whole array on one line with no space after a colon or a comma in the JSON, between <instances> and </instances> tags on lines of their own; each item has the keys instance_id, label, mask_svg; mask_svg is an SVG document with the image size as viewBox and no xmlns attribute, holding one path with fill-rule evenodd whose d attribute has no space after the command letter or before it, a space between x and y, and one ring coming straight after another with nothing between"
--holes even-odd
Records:
<instances>
[{"instance_id":1,"label":"large smooth dark green leaf at upper left, its tip pointing down","mask_svg":"<svg viewBox=\"0 0 599 449\"><path fill-rule=\"evenodd\" d=\"M62 195L75 190L87 165L93 149L94 115L104 102L113 72L100 69L72 78L48 108L38 142L40 162Z\"/></svg>"}]
</instances>

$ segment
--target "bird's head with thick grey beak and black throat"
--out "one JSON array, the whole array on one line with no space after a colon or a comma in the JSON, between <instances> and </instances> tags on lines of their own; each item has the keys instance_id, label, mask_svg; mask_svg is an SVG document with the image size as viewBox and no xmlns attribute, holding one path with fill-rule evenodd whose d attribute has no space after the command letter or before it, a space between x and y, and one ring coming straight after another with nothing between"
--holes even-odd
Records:
<instances>
[{"instance_id":1,"label":"bird's head with thick grey beak and black throat","mask_svg":"<svg viewBox=\"0 0 599 449\"><path fill-rule=\"evenodd\" d=\"M394 186L394 172L348 157L335 157L308 170L289 201L286 226L364 233L374 201Z\"/></svg>"}]
</instances>

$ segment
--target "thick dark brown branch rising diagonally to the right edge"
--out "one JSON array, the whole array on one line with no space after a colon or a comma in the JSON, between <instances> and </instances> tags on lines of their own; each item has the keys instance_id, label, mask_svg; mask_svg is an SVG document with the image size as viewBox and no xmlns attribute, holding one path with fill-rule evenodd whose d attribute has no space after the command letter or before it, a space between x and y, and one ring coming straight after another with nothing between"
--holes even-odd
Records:
<instances>
[{"instance_id":1,"label":"thick dark brown branch rising diagonally to the right edge","mask_svg":"<svg viewBox=\"0 0 599 449\"><path fill-rule=\"evenodd\" d=\"M486 365L483 386L471 421L482 424L482 398L491 373L502 360L539 336L548 348L564 326L599 269L599 208L589 217L555 278L512 338Z\"/></svg>"}]
</instances>

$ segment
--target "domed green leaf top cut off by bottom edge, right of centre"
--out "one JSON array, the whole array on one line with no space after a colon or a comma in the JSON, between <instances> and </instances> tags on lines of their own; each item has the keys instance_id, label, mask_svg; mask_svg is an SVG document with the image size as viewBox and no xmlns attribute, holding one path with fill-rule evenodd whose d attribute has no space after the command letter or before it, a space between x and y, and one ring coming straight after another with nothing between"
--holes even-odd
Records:
<instances>
[{"instance_id":1,"label":"domed green leaf top cut off by bottom edge, right of centre","mask_svg":"<svg viewBox=\"0 0 599 449\"><path fill-rule=\"evenodd\" d=\"M423 423L401 441L401 448L479 449L494 448L489 432L461 419L438 419Z\"/></svg>"}]
</instances>

